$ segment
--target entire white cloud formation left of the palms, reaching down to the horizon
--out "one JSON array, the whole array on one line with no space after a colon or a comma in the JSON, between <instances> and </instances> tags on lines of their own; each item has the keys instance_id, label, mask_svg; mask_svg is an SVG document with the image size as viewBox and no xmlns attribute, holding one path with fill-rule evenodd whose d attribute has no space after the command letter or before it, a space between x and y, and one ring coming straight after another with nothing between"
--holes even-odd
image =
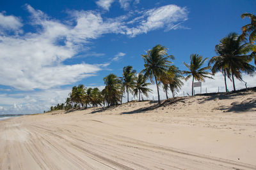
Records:
<instances>
[{"instance_id":1,"label":"entire white cloud formation left of the palms, reaching down to the horizon","mask_svg":"<svg viewBox=\"0 0 256 170\"><path fill-rule=\"evenodd\" d=\"M109 10L113 2L106 1L106 7L102 8ZM138 0L120 1L120 6L128 8L132 2L139 3ZM10 90L1 90L0 113L47 110L51 105L63 103L68 96L71 89L61 89L61 86L95 76L100 70L106 69L109 63L64 64L73 57L104 56L104 53L84 54L90 50L93 39L109 33L134 37L156 29L168 29L170 25L184 22L188 17L185 8L175 5L141 13L134 11L132 15L129 13L116 18L102 17L97 11L73 10L68 12L68 19L64 21L49 17L29 4L26 4L26 10L30 13L30 20L24 23L19 17L0 13L0 83L11 91L24 90L14 94ZM22 28L25 23L32 26L34 31L24 32ZM112 61L124 55L119 52Z\"/></svg>"}]
</instances>

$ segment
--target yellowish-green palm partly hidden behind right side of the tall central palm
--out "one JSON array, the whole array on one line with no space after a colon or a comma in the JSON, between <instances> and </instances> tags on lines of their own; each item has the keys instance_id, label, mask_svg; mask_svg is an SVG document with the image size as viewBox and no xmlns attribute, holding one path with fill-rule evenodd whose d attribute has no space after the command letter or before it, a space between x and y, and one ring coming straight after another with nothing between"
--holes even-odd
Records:
<instances>
[{"instance_id":1,"label":"yellowish-green palm partly hidden behind right side of the tall central palm","mask_svg":"<svg viewBox=\"0 0 256 170\"><path fill-rule=\"evenodd\" d=\"M170 66L168 69L168 73L172 75L169 81L169 87L172 91L172 97L174 97L175 94L179 92L179 89L181 89L182 85L184 85L184 83L182 82L182 79L184 77L182 76L182 71L180 71L179 68L176 66Z\"/></svg>"}]
</instances>

